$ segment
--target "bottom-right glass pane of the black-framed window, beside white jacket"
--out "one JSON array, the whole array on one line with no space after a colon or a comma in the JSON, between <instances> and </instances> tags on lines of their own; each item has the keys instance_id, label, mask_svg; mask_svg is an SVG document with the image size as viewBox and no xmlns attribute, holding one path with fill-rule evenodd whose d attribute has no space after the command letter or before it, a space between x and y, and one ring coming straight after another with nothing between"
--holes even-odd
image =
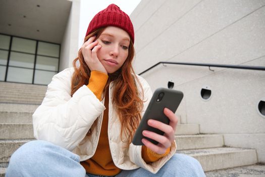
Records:
<instances>
[{"instance_id":1,"label":"bottom-right glass pane of the black-framed window, beside white jacket","mask_svg":"<svg viewBox=\"0 0 265 177\"><path fill-rule=\"evenodd\" d=\"M57 72L35 70L34 83L49 84L52 76L54 76L55 74L57 74Z\"/></svg>"}]
</instances>

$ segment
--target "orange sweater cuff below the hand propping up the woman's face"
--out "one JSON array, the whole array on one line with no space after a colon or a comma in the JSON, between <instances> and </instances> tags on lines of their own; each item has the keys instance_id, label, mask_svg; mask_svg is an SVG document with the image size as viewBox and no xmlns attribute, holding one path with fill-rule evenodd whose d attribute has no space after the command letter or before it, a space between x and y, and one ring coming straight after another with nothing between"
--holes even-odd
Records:
<instances>
[{"instance_id":1,"label":"orange sweater cuff below the hand propping up the woman's face","mask_svg":"<svg viewBox=\"0 0 265 177\"><path fill-rule=\"evenodd\" d=\"M99 71L91 71L87 87L95 94L96 98L101 101L101 95L108 81L109 76Z\"/></svg>"}]
</instances>

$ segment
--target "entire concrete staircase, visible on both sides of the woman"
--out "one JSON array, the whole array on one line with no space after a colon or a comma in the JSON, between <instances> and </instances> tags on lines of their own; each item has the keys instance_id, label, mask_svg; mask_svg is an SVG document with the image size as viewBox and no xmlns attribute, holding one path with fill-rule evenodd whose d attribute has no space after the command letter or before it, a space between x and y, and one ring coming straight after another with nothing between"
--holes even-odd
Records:
<instances>
[{"instance_id":1,"label":"entire concrete staircase, visible on both sides of the woman","mask_svg":"<svg viewBox=\"0 0 265 177\"><path fill-rule=\"evenodd\" d=\"M31 116L41 104L46 89L47 86L42 85L0 82L0 177L5 175L13 152L34 139ZM225 147L222 135L202 135L198 124L178 124L176 141L178 153L196 158L206 176L223 176L211 170L257 163L255 150ZM265 174L262 169L261 173ZM229 170L222 170L220 174Z\"/></svg>"}]
</instances>

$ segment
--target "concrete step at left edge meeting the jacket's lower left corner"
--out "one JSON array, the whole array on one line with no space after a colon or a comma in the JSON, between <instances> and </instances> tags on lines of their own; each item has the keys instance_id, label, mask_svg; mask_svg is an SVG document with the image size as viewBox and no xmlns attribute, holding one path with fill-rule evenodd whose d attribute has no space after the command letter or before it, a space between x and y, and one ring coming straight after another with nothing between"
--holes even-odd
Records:
<instances>
[{"instance_id":1,"label":"concrete step at left edge meeting the jacket's lower left corner","mask_svg":"<svg viewBox=\"0 0 265 177\"><path fill-rule=\"evenodd\" d=\"M33 139L32 123L0 123L0 139Z\"/></svg>"}]
</instances>

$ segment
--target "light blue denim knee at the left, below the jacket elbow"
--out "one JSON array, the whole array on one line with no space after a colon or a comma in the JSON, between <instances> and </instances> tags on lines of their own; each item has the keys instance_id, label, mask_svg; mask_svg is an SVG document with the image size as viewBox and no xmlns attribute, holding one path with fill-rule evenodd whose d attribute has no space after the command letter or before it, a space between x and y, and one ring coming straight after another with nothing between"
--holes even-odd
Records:
<instances>
[{"instance_id":1,"label":"light blue denim knee at the left, below the jacket elbow","mask_svg":"<svg viewBox=\"0 0 265 177\"><path fill-rule=\"evenodd\" d=\"M31 141L21 146L10 158L9 176L85 176L79 156L52 143Z\"/></svg>"}]
</instances>

